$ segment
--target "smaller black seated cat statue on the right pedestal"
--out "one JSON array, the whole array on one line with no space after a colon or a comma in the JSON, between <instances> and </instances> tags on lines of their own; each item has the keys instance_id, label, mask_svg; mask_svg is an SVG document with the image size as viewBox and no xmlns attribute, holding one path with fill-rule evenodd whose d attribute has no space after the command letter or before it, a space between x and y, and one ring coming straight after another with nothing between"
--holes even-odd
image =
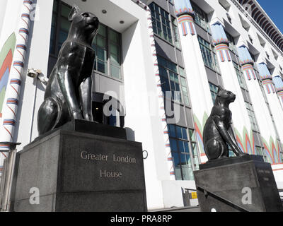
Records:
<instances>
[{"instance_id":1,"label":"smaller black seated cat statue on the right pedestal","mask_svg":"<svg viewBox=\"0 0 283 226\"><path fill-rule=\"evenodd\" d=\"M209 160L229 157L229 146L236 156L246 155L238 147L231 127L229 105L235 100L235 94L219 87L212 113L204 126L204 151Z\"/></svg>"}]
</instances>

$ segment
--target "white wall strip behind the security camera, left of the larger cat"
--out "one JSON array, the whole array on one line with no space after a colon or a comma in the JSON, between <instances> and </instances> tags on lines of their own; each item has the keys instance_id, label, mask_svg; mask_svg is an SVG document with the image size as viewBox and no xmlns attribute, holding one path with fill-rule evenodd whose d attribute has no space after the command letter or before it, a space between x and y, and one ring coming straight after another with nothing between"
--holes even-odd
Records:
<instances>
[{"instance_id":1,"label":"white wall strip behind the security camera, left of the larger cat","mask_svg":"<svg viewBox=\"0 0 283 226\"><path fill-rule=\"evenodd\" d=\"M28 69L39 69L47 76L47 66L50 47L50 31L53 1L37 0L35 20L30 24L30 39L26 54L25 73L23 73L20 104L18 108L18 124L15 139L22 143L18 150L22 150L38 136L37 112L42 105L45 85L39 80L27 76ZM48 38L45 38L48 37Z\"/></svg>"}]
</instances>

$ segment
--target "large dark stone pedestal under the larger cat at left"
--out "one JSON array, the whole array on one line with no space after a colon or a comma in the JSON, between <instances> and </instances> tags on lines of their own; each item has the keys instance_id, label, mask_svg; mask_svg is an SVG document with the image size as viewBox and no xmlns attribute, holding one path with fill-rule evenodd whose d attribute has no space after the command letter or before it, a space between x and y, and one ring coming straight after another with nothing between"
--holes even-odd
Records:
<instances>
[{"instance_id":1,"label":"large dark stone pedestal under the larger cat at left","mask_svg":"<svg viewBox=\"0 0 283 226\"><path fill-rule=\"evenodd\" d=\"M146 211L141 143L127 141L125 134L73 121L37 138L18 153L13 210Z\"/></svg>"}]
</instances>

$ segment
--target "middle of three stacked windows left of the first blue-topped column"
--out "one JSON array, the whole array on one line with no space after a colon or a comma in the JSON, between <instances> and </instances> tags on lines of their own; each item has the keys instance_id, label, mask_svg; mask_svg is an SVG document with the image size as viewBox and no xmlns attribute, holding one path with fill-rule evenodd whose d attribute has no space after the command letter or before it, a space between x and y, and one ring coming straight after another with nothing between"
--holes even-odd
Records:
<instances>
[{"instance_id":1,"label":"middle of three stacked windows left of the first blue-topped column","mask_svg":"<svg viewBox=\"0 0 283 226\"><path fill-rule=\"evenodd\" d=\"M164 59L163 57L157 57L159 74L161 78L161 88L164 94L166 92L171 92L172 100L176 102L184 102L186 105L189 105L189 95L187 91L187 83L185 78L179 76L178 73L185 76L185 71L182 68L179 68L176 64ZM179 82L179 77L180 81ZM182 88L182 91L181 89ZM183 93L183 97L182 97ZM184 100L184 101L183 101Z\"/></svg>"}]
</instances>

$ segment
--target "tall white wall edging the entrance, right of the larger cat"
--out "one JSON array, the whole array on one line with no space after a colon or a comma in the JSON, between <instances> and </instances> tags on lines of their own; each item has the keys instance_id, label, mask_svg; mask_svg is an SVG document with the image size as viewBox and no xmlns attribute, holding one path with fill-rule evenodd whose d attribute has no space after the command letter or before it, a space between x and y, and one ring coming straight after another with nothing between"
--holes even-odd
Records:
<instances>
[{"instance_id":1,"label":"tall white wall edging the entrance, right of the larger cat","mask_svg":"<svg viewBox=\"0 0 283 226\"><path fill-rule=\"evenodd\" d=\"M161 179L168 177L168 173L166 174L168 169L164 164L166 155L163 152L165 146L163 131L161 124L158 123L161 120L157 113L155 117L151 117L151 111L157 112L158 109L151 108L149 99L149 93L154 94L154 87L148 83L151 81L153 85L155 84L155 75L146 21L141 19L128 28L123 33L122 42L125 75L125 127L134 131L134 140L142 142L143 149L149 153L148 158L144 160L148 207L149 209L163 208Z\"/></svg>"}]
</instances>

